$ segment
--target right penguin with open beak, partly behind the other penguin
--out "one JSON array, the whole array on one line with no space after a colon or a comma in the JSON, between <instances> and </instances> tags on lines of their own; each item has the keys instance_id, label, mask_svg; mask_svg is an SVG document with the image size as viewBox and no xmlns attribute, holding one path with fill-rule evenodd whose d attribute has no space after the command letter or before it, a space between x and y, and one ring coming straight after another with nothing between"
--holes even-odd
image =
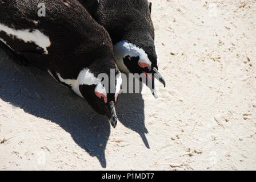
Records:
<instances>
[{"instance_id":1,"label":"right penguin with open beak, partly behind the other penguin","mask_svg":"<svg viewBox=\"0 0 256 182\"><path fill-rule=\"evenodd\" d=\"M154 80L166 82L158 72L151 6L147 0L78 0L109 32L118 68L125 73L145 74L146 84L157 98Z\"/></svg>"}]
</instances>

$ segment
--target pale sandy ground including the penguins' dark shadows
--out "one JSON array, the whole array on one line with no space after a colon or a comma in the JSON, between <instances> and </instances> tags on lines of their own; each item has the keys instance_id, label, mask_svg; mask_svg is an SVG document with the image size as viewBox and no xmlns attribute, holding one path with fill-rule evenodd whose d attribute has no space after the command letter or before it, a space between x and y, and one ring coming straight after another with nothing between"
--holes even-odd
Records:
<instances>
[{"instance_id":1,"label":"pale sandy ground including the penguins' dark shadows","mask_svg":"<svg viewBox=\"0 0 256 182\"><path fill-rule=\"evenodd\" d=\"M0 50L0 169L256 169L256 1L155 0L167 88L119 97L116 129Z\"/></svg>"}]
</instances>

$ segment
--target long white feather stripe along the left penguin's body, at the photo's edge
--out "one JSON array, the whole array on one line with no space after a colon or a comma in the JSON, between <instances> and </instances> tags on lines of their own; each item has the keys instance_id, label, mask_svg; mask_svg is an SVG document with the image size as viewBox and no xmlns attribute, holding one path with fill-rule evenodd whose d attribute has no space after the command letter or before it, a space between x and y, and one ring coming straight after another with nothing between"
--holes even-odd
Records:
<instances>
[{"instance_id":1,"label":"long white feather stripe along the left penguin's body, at the photo's edge","mask_svg":"<svg viewBox=\"0 0 256 182\"><path fill-rule=\"evenodd\" d=\"M48 36L40 32L39 30L16 30L15 28L10 28L0 23L0 31L5 32L11 38L17 38L23 40L25 43L35 43L38 47L44 50L45 54L48 54L47 47L51 46L51 42ZM0 40L7 44L5 40L0 38ZM8 45L7 45L8 46Z\"/></svg>"}]
</instances>

